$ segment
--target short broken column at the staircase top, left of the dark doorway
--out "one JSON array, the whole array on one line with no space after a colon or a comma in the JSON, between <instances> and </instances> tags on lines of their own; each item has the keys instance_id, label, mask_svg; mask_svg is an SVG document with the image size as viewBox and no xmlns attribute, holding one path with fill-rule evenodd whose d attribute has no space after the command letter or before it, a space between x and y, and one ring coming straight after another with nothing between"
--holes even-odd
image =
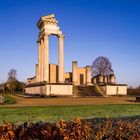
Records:
<instances>
[{"instance_id":1,"label":"short broken column at the staircase top, left of the dark doorway","mask_svg":"<svg viewBox=\"0 0 140 140\"><path fill-rule=\"evenodd\" d=\"M78 75L77 75L77 61L72 62L72 83L76 85L78 83Z\"/></svg>"}]
</instances>

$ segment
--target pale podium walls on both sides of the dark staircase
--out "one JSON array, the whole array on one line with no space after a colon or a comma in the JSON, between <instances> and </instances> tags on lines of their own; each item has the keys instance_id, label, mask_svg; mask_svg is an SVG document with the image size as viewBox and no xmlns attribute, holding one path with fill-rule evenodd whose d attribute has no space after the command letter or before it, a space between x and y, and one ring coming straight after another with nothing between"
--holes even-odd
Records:
<instances>
[{"instance_id":1,"label":"pale podium walls on both sides of the dark staircase","mask_svg":"<svg viewBox=\"0 0 140 140\"><path fill-rule=\"evenodd\" d=\"M125 85L105 85L102 86L105 95L127 95L127 86ZM25 93L40 94L40 95L73 95L73 85L55 85L49 84L46 86L26 87Z\"/></svg>"}]
</instances>

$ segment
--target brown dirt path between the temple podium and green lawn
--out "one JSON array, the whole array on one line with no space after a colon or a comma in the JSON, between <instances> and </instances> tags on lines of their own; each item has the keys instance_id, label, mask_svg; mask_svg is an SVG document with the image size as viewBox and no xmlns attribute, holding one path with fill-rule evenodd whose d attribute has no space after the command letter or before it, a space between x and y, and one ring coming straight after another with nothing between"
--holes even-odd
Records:
<instances>
[{"instance_id":1,"label":"brown dirt path between the temple podium and green lawn","mask_svg":"<svg viewBox=\"0 0 140 140\"><path fill-rule=\"evenodd\" d=\"M93 98L22 98L14 95L11 97L17 103L10 106L71 106L71 105L103 105L103 104L138 104L135 97L93 97Z\"/></svg>"}]
</instances>

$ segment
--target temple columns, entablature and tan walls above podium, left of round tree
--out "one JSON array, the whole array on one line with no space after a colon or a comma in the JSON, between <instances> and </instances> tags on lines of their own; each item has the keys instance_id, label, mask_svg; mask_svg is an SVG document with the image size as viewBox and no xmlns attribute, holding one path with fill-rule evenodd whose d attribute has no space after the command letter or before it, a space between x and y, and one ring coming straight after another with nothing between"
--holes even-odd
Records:
<instances>
[{"instance_id":1,"label":"temple columns, entablature and tan walls above podium, left of round tree","mask_svg":"<svg viewBox=\"0 0 140 140\"><path fill-rule=\"evenodd\" d=\"M40 30L38 36L38 64L36 76L28 78L28 83L72 83L91 84L91 67L78 68L77 61L72 63L72 73L64 73L64 35L54 15L41 17L37 23ZM49 36L58 37L58 65L49 64Z\"/></svg>"}]
</instances>

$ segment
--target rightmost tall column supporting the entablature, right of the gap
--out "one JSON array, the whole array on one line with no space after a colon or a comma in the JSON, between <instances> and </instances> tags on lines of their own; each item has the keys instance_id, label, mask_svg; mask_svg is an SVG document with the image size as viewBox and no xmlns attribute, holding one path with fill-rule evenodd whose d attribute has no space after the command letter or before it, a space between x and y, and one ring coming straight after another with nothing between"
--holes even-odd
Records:
<instances>
[{"instance_id":1,"label":"rightmost tall column supporting the entablature, right of the gap","mask_svg":"<svg viewBox=\"0 0 140 140\"><path fill-rule=\"evenodd\" d=\"M58 82L64 83L64 36L58 36Z\"/></svg>"}]
</instances>

